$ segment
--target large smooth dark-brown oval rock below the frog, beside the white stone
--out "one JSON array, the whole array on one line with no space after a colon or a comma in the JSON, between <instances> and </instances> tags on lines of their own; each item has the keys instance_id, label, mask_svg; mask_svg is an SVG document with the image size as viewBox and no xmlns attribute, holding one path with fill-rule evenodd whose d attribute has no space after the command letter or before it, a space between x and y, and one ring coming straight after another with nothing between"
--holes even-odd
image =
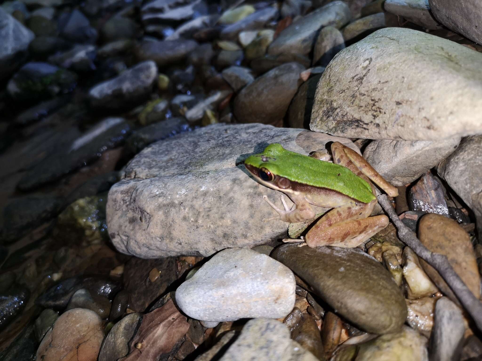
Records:
<instances>
[{"instance_id":1,"label":"large smooth dark-brown oval rock below the frog, beside the white stone","mask_svg":"<svg viewBox=\"0 0 482 361\"><path fill-rule=\"evenodd\" d=\"M398 332L406 320L405 300L390 273L358 248L281 245L271 256L337 313L369 333Z\"/></svg>"}]
</instances>

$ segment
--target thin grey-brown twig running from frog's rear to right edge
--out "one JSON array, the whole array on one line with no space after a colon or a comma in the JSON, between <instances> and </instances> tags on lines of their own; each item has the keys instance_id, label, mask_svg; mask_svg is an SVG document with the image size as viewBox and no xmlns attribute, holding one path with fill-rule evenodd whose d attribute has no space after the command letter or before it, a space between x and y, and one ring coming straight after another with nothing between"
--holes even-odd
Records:
<instances>
[{"instance_id":1,"label":"thin grey-brown twig running from frog's rear to right edge","mask_svg":"<svg viewBox=\"0 0 482 361\"><path fill-rule=\"evenodd\" d=\"M422 245L416 237L415 232L405 226L397 216L386 194L380 194L378 196L378 203L385 212L387 212L388 217L390 217L397 227L400 240L412 248L418 257L425 259L430 266L439 272L452 291L454 291L455 296L459 299L462 306L469 312L477 328L482 331L482 303L469 290L464 281L460 279L450 265L447 257L440 253L431 252L426 246Z\"/></svg>"}]
</instances>

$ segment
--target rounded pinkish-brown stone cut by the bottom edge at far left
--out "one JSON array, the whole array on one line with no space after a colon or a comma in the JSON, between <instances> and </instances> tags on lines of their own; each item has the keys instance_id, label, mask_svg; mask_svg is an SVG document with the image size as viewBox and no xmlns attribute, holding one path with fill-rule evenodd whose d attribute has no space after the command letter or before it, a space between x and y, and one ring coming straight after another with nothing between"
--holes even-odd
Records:
<instances>
[{"instance_id":1,"label":"rounded pinkish-brown stone cut by the bottom edge at far left","mask_svg":"<svg viewBox=\"0 0 482 361\"><path fill-rule=\"evenodd\" d=\"M37 360L96 361L103 338L102 320L94 311L71 309L45 334Z\"/></svg>"}]
</instances>

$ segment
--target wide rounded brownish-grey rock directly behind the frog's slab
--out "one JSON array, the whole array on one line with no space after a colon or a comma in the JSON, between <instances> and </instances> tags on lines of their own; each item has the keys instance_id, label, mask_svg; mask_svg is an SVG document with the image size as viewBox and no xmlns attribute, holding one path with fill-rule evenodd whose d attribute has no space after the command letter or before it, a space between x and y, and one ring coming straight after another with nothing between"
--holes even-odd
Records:
<instances>
[{"instance_id":1,"label":"wide rounded brownish-grey rock directly behind the frog's slab","mask_svg":"<svg viewBox=\"0 0 482 361\"><path fill-rule=\"evenodd\" d=\"M282 121L301 85L298 63L280 65L244 87L234 100L234 116L241 123L274 124Z\"/></svg>"}]
</instances>

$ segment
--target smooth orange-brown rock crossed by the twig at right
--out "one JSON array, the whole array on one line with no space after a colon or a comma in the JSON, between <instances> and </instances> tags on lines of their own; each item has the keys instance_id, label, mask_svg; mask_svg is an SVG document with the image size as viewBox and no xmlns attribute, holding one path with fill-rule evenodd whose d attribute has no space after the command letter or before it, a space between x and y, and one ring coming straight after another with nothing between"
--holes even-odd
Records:
<instances>
[{"instance_id":1,"label":"smooth orange-brown rock crossed by the twig at right","mask_svg":"<svg viewBox=\"0 0 482 361\"><path fill-rule=\"evenodd\" d=\"M481 277L470 237L454 219L429 213L420 219L418 238L430 251L447 256L450 265L475 297L481 295ZM442 293L458 304L451 288L439 273L423 259L420 263Z\"/></svg>"}]
</instances>

